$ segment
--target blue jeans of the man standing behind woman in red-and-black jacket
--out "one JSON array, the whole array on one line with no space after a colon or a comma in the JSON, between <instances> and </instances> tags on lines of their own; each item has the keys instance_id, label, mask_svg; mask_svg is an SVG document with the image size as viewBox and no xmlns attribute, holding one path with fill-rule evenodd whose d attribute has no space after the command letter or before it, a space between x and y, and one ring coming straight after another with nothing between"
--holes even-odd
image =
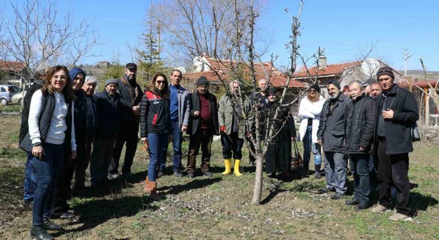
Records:
<instances>
[{"instance_id":1,"label":"blue jeans of the man standing behind woman in red-and-black jacket","mask_svg":"<svg viewBox=\"0 0 439 240\"><path fill-rule=\"evenodd\" d=\"M174 156L172 156L172 164L174 165L174 172L182 171L183 166L181 164L182 152L181 152L181 144L183 141L183 133L180 129L180 122L171 121L172 128L172 149L174 150ZM161 161L160 169L165 169L166 167L166 156Z\"/></svg>"}]
</instances>

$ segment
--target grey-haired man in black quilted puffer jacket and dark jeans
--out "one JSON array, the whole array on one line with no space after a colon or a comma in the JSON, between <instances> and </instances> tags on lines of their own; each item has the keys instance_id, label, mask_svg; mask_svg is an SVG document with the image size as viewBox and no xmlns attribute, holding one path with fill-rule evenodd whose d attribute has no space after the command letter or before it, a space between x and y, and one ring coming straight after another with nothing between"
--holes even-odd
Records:
<instances>
[{"instance_id":1,"label":"grey-haired man in black quilted puffer jacket and dark jeans","mask_svg":"<svg viewBox=\"0 0 439 240\"><path fill-rule=\"evenodd\" d=\"M357 205L355 210L370 207L370 171L369 159L373 139L374 109L373 100L364 93L359 81L349 84L353 104L346 115L346 141L344 148L351 159L351 171L354 176L354 197L346 201L348 205Z\"/></svg>"}]
</instances>

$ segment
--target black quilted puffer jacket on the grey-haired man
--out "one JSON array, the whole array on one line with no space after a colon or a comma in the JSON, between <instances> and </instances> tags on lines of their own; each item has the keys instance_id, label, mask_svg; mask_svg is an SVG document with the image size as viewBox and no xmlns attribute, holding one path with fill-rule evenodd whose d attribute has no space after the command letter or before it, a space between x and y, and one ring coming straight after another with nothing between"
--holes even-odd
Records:
<instances>
[{"instance_id":1,"label":"black quilted puffer jacket on the grey-haired man","mask_svg":"<svg viewBox=\"0 0 439 240\"><path fill-rule=\"evenodd\" d=\"M346 140L344 150L347 154L370 152L375 126L373 100L361 95L353 100L346 112ZM360 151L362 147L364 151Z\"/></svg>"}]
</instances>

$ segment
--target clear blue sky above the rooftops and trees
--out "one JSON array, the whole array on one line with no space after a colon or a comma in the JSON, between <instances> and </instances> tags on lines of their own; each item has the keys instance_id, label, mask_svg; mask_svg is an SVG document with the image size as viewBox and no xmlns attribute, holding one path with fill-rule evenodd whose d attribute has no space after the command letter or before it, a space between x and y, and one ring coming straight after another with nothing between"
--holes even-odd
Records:
<instances>
[{"instance_id":1,"label":"clear blue sky above the rooftops and trees","mask_svg":"<svg viewBox=\"0 0 439 240\"><path fill-rule=\"evenodd\" d=\"M278 56L276 67L287 66L289 52L288 8L295 15L299 0L265 0L258 26L265 35L264 61L270 53ZM130 60L127 43L137 43L145 29L143 19L149 0L64 0L74 8L75 17L93 21L99 31L101 47L95 49L99 56L83 59L82 63L95 64L100 60L111 61L119 54L121 62ZM0 2L8 12L9 1ZM311 56L318 47L324 48L327 64L337 64L361 58L361 54L374 48L369 57L379 58L394 69L404 68L403 51L412 54L407 69L422 69L419 58L429 71L439 71L439 1L437 0L307 0L303 5L301 36L298 38L300 53Z\"/></svg>"}]
</instances>

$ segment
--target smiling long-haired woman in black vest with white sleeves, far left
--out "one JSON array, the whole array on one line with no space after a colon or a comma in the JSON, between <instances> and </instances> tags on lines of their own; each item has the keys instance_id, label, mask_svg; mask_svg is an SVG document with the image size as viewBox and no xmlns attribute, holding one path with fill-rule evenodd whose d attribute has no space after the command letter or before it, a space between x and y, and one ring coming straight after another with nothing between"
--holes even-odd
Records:
<instances>
[{"instance_id":1,"label":"smiling long-haired woman in black vest with white sleeves, far left","mask_svg":"<svg viewBox=\"0 0 439 240\"><path fill-rule=\"evenodd\" d=\"M64 156L76 157L73 126L74 95L67 68L53 67L43 87L32 95L29 110L29 132L20 147L34 158L37 187L34 194L31 237L54 239L46 230L62 230L49 221L56 182ZM66 155L67 154L67 155Z\"/></svg>"}]
</instances>

